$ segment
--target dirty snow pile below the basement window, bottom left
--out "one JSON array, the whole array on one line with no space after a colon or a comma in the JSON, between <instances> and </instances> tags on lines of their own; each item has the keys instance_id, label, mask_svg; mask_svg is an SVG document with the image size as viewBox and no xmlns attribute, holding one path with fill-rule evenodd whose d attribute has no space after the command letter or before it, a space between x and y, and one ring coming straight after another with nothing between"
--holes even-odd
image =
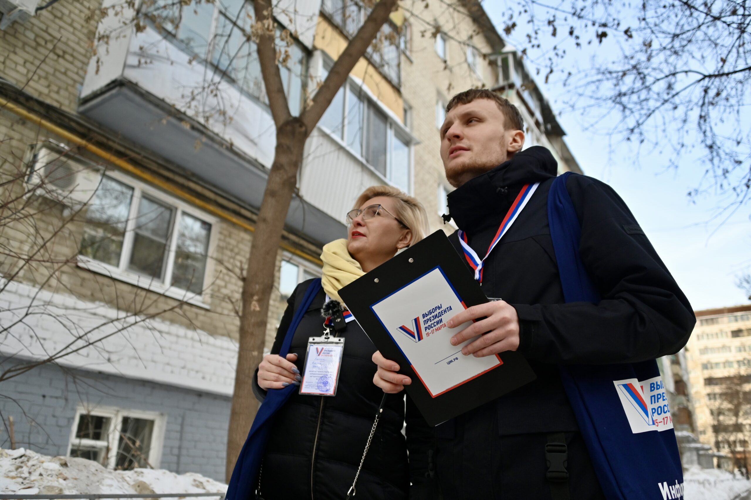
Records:
<instances>
[{"instance_id":1,"label":"dirty snow pile below the basement window, bottom left","mask_svg":"<svg viewBox=\"0 0 751 500\"><path fill-rule=\"evenodd\" d=\"M178 475L150 468L112 471L92 460L52 457L23 448L0 450L0 493L64 495L225 491L226 484L192 472ZM216 500L213 496L202 498Z\"/></svg>"}]
</instances>

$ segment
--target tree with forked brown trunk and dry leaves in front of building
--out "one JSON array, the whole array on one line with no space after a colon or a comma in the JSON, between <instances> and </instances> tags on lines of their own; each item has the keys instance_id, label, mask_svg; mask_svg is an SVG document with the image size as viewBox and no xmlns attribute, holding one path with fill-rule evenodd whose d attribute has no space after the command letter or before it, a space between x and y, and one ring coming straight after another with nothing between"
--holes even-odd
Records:
<instances>
[{"instance_id":1,"label":"tree with forked brown trunk and dry leaves in front of building","mask_svg":"<svg viewBox=\"0 0 751 500\"><path fill-rule=\"evenodd\" d=\"M225 23L225 30L217 32L211 41L202 43L213 44L214 53L219 53L219 60L204 67L204 79L195 88L184 89L182 98L185 108L192 116L208 125L218 120L225 125L234 118L234 110L222 98L222 82L246 78L247 75L230 74L234 62L252 59L261 70L261 80L244 82L243 86L254 89L257 97L265 101L270 109L276 128L276 148L269 170L264 197L258 210L255 224L255 234L252 239L250 253L247 258L246 273L243 277L243 291L239 309L240 314L240 350L238 354L237 373L234 385L230 430L227 450L227 477L230 477L240 449L245 441L247 432L252 425L257 408L257 402L252 396L252 379L255 368L261 361L264 350L264 333L267 331L267 318L270 306L271 291L274 286L274 264L285 218L292 196L297 188L297 174L303 162L303 147L309 134L315 129L321 116L327 110L336 92L345 83L354 65L363 56L382 71L388 71L383 64L383 53L388 45L394 47L398 53L398 33L388 24L388 19L397 8L397 0L357 0L355 7L364 8L367 17L362 23L355 20L351 8L345 2L333 2L340 5L337 15L342 17L342 24L346 25L349 41L339 55L333 67L328 71L322 82L312 82L306 89L306 100L300 113L291 110L291 103L282 85L281 71L291 69L294 62L291 48L293 37L298 35L289 29L282 29L277 23L280 17L290 19L297 14L294 11L284 11L279 3L270 0L255 0L253 8L255 16L249 27L241 23L238 17L243 17L243 10L237 11L234 20ZM441 32L435 20L422 17L421 11L425 6L421 2L405 2L406 11L410 18L414 18L415 25L420 26L421 36L435 38ZM462 2L446 2L454 11L454 23L466 21L472 12L459 8ZM189 14L198 12L202 5L212 5L212 0L195 0L195 2L169 2L162 0L145 0L134 17L129 17L128 9L133 9L132 2L122 2L110 8L117 15L123 17L125 25L131 26L136 32L142 32L146 26L155 26L158 31L172 34L179 31L179 26ZM351 7L351 6L350 6ZM110 12L111 13L111 12ZM107 12L99 14L106 15ZM248 14L250 17L250 14ZM277 19L275 19L275 17ZM228 26L228 28L226 28ZM355 26L351 29L351 26ZM492 26L490 27L492 29ZM451 26L443 26L442 31L451 33ZM228 43L238 35L243 43L230 48ZM118 29L110 32L100 32L96 42L106 47L111 39L118 36ZM467 44L470 40L459 41ZM144 56L139 58L139 65L151 64L151 56L146 47L142 50ZM101 54L95 57L97 67L101 63ZM159 54L160 57L168 55ZM480 56L480 55L478 55ZM191 62L201 59L196 55ZM243 63L240 63L241 65ZM466 60L456 62L466 64ZM447 89L451 92L451 89ZM197 148L200 143L197 143Z\"/></svg>"}]
</instances>

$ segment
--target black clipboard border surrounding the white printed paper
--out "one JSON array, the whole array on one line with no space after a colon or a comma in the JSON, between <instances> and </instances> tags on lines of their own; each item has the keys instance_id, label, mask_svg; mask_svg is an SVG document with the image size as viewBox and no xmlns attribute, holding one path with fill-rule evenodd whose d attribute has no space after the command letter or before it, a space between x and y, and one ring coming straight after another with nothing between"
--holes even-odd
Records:
<instances>
[{"instance_id":1,"label":"black clipboard border surrounding the white printed paper","mask_svg":"<svg viewBox=\"0 0 751 500\"><path fill-rule=\"evenodd\" d=\"M454 293L466 307L488 302L482 288L442 230L427 236L339 290L339 297L342 297L375 347L384 357L399 364L400 373L412 379L412 384L406 386L405 390L431 426L477 408L536 378L535 372L521 354L506 351L499 356L502 361L500 366L445 392L437 395L430 393L371 306L385 300L409 283L432 273L436 268L443 273L451 288L454 288Z\"/></svg>"}]
</instances>

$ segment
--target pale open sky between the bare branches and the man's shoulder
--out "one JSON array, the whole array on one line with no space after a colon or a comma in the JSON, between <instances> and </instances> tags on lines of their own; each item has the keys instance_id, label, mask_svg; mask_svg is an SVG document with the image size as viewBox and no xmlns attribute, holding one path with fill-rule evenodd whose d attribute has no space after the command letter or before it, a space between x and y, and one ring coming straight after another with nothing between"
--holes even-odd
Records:
<instances>
[{"instance_id":1,"label":"pale open sky between the bare branches and the man's shoulder","mask_svg":"<svg viewBox=\"0 0 751 500\"><path fill-rule=\"evenodd\" d=\"M504 3L483 4L499 32ZM515 35L523 37L523 31ZM567 64L584 68L592 52L570 47L569 55ZM543 77L535 81L553 110L562 110L561 98L569 91L559 83L545 85ZM623 197L695 310L749 303L735 282L739 273L751 269L751 206L718 216L727 200L707 194L692 203L686 195L701 181L700 161L683 158L678 170L665 171L659 152L641 155L638 162L629 146L616 146L614 154L609 153L607 139L585 131L581 116L559 113L558 118L584 173L608 182Z\"/></svg>"}]
</instances>

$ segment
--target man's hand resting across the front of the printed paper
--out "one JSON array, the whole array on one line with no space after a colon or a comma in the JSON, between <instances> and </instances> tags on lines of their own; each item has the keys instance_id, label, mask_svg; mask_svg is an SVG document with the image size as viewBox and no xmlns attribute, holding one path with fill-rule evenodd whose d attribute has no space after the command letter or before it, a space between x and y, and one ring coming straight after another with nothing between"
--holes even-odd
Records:
<instances>
[{"instance_id":1,"label":"man's hand resting across the front of the printed paper","mask_svg":"<svg viewBox=\"0 0 751 500\"><path fill-rule=\"evenodd\" d=\"M475 342L465 345L462 348L462 354L484 357L503 351L516 351L519 348L519 317L516 309L502 300L472 306L451 318L447 326L454 328L477 318L485 319L451 337L451 345L460 345L484 333Z\"/></svg>"}]
</instances>

